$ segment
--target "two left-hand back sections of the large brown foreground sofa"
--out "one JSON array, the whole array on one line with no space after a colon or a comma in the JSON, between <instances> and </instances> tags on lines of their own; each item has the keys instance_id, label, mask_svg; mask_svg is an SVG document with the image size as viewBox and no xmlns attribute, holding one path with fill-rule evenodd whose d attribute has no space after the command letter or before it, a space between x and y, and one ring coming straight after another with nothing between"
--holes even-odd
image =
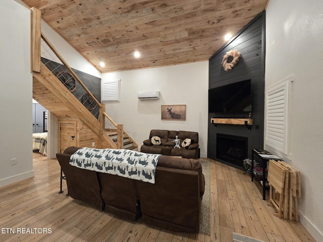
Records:
<instances>
[{"instance_id":1,"label":"two left-hand back sections of the large brown foreground sofa","mask_svg":"<svg viewBox=\"0 0 323 242\"><path fill-rule=\"evenodd\" d=\"M140 215L135 180L70 165L70 157L78 149L70 147L56 154L70 197L100 204L107 212L135 220Z\"/></svg>"}]
</instances>

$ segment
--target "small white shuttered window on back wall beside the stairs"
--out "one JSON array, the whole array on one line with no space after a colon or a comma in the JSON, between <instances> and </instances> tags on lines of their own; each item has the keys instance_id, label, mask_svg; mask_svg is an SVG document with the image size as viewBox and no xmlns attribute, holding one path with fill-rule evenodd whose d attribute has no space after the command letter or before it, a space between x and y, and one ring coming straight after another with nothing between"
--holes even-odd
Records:
<instances>
[{"instance_id":1,"label":"small white shuttered window on back wall beside the stairs","mask_svg":"<svg viewBox=\"0 0 323 242\"><path fill-rule=\"evenodd\" d=\"M101 81L101 100L102 102L120 100L120 79Z\"/></svg>"}]
</instances>

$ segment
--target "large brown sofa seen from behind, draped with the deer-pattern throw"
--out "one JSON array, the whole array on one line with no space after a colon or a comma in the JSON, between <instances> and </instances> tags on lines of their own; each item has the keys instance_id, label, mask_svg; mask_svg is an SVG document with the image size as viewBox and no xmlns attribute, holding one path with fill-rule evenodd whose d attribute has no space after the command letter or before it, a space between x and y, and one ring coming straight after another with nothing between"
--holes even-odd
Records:
<instances>
[{"instance_id":1,"label":"large brown sofa seen from behind, draped with the deer-pattern throw","mask_svg":"<svg viewBox=\"0 0 323 242\"><path fill-rule=\"evenodd\" d=\"M126 219L142 216L161 228L198 232L205 186L198 160L161 155L151 184L72 166L70 157L78 149L70 147L56 155L72 198L101 204L105 211Z\"/></svg>"}]
</instances>

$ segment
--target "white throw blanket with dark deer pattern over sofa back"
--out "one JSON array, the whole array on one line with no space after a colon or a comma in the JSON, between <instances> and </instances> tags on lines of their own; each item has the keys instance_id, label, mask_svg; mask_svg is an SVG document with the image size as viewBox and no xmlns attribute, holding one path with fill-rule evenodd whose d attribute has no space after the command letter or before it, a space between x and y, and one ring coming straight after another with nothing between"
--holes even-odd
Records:
<instances>
[{"instance_id":1,"label":"white throw blanket with dark deer pattern over sofa back","mask_svg":"<svg viewBox=\"0 0 323 242\"><path fill-rule=\"evenodd\" d=\"M70 164L154 184L159 157L159 154L124 149L81 148L71 155Z\"/></svg>"}]
</instances>

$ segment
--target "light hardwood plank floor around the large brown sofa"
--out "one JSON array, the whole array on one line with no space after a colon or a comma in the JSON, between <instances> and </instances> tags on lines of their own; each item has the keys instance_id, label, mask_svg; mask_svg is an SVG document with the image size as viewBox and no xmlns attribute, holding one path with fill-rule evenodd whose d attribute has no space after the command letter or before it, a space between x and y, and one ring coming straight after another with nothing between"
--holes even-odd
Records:
<instances>
[{"instance_id":1,"label":"light hardwood plank floor around the large brown sofa","mask_svg":"<svg viewBox=\"0 0 323 242\"><path fill-rule=\"evenodd\" d=\"M273 215L273 208L262 200L250 174L210 162L211 234L207 236L168 231L140 219L127 221L102 212L99 207L67 197L65 181L65 193L58 194L58 161L34 153L35 176L0 188L0 241L232 242L232 232L270 242L315 241L300 223ZM17 233L17 229L21 231Z\"/></svg>"}]
</instances>

